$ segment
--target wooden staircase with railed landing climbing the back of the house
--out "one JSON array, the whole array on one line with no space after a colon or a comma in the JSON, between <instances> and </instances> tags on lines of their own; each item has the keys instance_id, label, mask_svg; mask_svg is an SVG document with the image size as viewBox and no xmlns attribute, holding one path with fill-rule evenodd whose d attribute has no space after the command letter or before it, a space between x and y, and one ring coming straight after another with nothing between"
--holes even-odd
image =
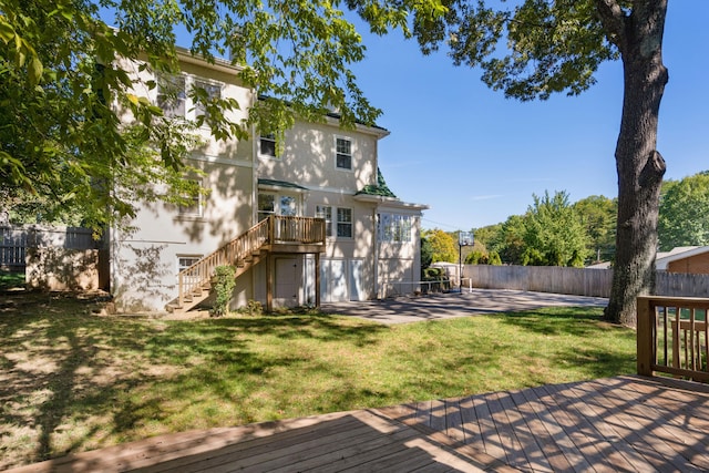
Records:
<instances>
[{"instance_id":1,"label":"wooden staircase with railed landing climbing the back of the house","mask_svg":"<svg viewBox=\"0 0 709 473\"><path fill-rule=\"evenodd\" d=\"M178 296L165 306L166 310L186 312L207 299L212 292L212 277L217 266L234 266L235 277L238 278L267 258L270 253L323 251L325 228L322 218L269 216L179 271Z\"/></svg>"}]
</instances>

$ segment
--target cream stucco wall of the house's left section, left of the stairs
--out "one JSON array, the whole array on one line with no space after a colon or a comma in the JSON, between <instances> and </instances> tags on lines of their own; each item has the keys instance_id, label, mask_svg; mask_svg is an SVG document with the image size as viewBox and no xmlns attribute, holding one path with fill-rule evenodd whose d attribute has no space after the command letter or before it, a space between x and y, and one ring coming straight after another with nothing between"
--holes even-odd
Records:
<instances>
[{"instance_id":1,"label":"cream stucco wall of the house's left section, left of the stairs","mask_svg":"<svg viewBox=\"0 0 709 473\"><path fill-rule=\"evenodd\" d=\"M182 68L188 81L208 78L209 83L220 86L223 97L251 103L250 91L234 80L234 73L192 63L184 63ZM135 92L156 103L157 90L141 85L153 78L144 71L136 72L137 76L142 82L136 81ZM187 103L187 114L191 107ZM245 111L232 115L235 121L245 117ZM199 181L209 189L201 197L199 212L181 212L177 206L163 203L142 203L131 223L133 232L112 232L111 290L120 310L164 310L177 294L181 258L206 256L253 225L253 143L216 142L209 138L207 127L196 133L204 143L193 151L188 164L203 175L186 178ZM239 300L248 300L251 292L250 285L244 287L239 281L236 289Z\"/></svg>"}]
</instances>

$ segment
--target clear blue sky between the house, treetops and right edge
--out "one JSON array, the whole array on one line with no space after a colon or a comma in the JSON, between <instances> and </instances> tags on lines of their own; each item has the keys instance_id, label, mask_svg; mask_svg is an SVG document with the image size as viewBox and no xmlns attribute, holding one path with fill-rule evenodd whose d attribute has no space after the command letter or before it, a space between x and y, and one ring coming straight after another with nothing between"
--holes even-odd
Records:
<instances>
[{"instance_id":1,"label":"clear blue sky between the house, treetops and right edge","mask_svg":"<svg viewBox=\"0 0 709 473\"><path fill-rule=\"evenodd\" d=\"M671 0L664 61L670 81L660 107L658 150L666 178L709 169L708 0ZM368 99L383 110L379 164L407 202L428 204L424 228L469 230L523 214L533 194L565 191L572 202L617 196L615 144L620 123L620 62L575 97L517 102L487 89L481 71L423 56L400 33L364 34L356 65Z\"/></svg>"}]
</instances>

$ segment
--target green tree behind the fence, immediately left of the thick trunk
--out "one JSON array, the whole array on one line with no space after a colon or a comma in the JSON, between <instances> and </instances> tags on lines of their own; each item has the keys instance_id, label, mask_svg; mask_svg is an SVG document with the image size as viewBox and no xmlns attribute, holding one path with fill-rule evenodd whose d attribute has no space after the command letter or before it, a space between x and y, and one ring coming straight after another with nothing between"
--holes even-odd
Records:
<instances>
[{"instance_id":1,"label":"green tree behind the fence, immediately left of the thick trunk","mask_svg":"<svg viewBox=\"0 0 709 473\"><path fill-rule=\"evenodd\" d=\"M588 263L612 260L616 245L618 202L603 195L592 195L575 203L574 209L588 234L587 249L593 258Z\"/></svg>"}]
</instances>

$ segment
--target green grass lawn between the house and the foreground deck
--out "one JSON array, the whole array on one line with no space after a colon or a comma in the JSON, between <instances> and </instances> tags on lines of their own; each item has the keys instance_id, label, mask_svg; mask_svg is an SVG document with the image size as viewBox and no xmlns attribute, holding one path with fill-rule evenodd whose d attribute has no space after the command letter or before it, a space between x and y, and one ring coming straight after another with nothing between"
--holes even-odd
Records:
<instances>
[{"instance_id":1,"label":"green grass lawn between the house and the foreground deck","mask_svg":"<svg viewBox=\"0 0 709 473\"><path fill-rule=\"evenodd\" d=\"M0 295L0 470L168 432L635 371L602 309L383 326L323 315L166 321Z\"/></svg>"}]
</instances>

